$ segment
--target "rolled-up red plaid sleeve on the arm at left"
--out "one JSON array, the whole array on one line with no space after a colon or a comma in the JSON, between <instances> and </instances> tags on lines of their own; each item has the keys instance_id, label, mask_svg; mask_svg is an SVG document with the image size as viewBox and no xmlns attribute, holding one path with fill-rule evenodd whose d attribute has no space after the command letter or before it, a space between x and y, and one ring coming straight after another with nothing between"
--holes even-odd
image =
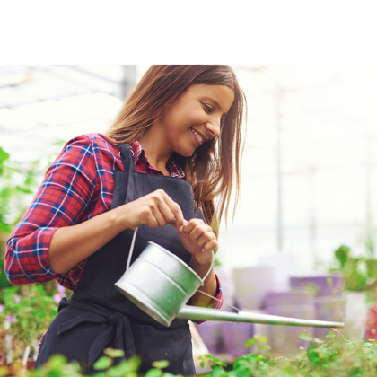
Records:
<instances>
[{"instance_id":1,"label":"rolled-up red plaid sleeve on the arm at left","mask_svg":"<svg viewBox=\"0 0 377 377\"><path fill-rule=\"evenodd\" d=\"M79 136L48 168L31 206L7 242L4 270L13 285L59 277L48 264L49 244L58 228L80 223L91 206L96 195L94 161L91 144Z\"/></svg>"}]
</instances>

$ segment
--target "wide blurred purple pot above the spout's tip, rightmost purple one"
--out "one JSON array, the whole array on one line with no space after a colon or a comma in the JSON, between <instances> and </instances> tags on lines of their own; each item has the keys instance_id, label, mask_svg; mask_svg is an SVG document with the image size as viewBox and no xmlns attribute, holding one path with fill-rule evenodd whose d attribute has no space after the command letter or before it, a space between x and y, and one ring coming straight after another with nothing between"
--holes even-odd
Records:
<instances>
[{"instance_id":1,"label":"wide blurred purple pot above the spout's tip, rightmost purple one","mask_svg":"<svg viewBox=\"0 0 377 377\"><path fill-rule=\"evenodd\" d=\"M290 277L290 285L306 288L315 296L339 296L345 288L345 280L341 275L298 276Z\"/></svg>"}]
</instances>

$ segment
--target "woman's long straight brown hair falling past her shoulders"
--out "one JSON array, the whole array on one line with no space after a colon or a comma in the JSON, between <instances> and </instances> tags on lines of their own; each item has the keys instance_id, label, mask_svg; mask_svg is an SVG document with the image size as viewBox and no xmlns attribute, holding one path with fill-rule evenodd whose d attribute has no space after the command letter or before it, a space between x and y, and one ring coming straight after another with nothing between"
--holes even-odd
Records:
<instances>
[{"instance_id":1,"label":"woman's long straight brown hair falling past her shoulders","mask_svg":"<svg viewBox=\"0 0 377 377\"><path fill-rule=\"evenodd\" d=\"M117 140L119 145L135 142L195 83L226 85L234 91L234 101L221 124L220 136L197 147L190 157L172 155L192 184L196 206L202 208L206 221L217 233L223 214L226 221L233 186L235 212L241 183L241 128L246 98L230 66L151 66L127 97L105 136Z\"/></svg>"}]
</instances>

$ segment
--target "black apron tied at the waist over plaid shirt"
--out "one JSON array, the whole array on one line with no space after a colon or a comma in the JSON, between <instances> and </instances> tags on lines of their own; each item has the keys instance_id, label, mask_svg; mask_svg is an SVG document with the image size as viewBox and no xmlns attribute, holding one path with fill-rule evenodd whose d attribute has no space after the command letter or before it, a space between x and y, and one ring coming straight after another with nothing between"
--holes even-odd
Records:
<instances>
[{"instance_id":1,"label":"black apron tied at the waist over plaid shirt","mask_svg":"<svg viewBox=\"0 0 377 377\"><path fill-rule=\"evenodd\" d=\"M111 208L163 189L180 205L184 218L201 217L194 207L191 185L187 180L136 171L129 145L120 145L124 171L115 171ZM59 311L42 341L36 367L50 355L66 355L95 373L94 362L106 347L123 349L125 357L140 355L141 372L145 373L156 360L168 360L164 371L194 375L191 334L187 320L173 320L169 328L141 311L118 292L114 283L126 270L133 231L119 233L88 259L75 293L63 299ZM154 241L176 254L188 265L192 259L180 242L177 230L171 225L156 229L139 227L132 261ZM131 262L132 263L132 262ZM118 360L119 361L119 360Z\"/></svg>"}]
</instances>

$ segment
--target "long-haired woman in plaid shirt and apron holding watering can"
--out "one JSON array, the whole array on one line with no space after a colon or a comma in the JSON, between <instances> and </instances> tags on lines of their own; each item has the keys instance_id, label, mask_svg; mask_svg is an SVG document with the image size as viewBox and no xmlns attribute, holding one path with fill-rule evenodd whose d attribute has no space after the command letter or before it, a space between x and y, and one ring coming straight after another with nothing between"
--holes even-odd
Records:
<instances>
[{"instance_id":1,"label":"long-haired woman in plaid shirt and apron holding watering can","mask_svg":"<svg viewBox=\"0 0 377 377\"><path fill-rule=\"evenodd\" d=\"M206 275L233 177L238 194L243 103L229 66L152 66L105 135L67 143L5 256L13 284L55 278L74 290L60 302L37 366L60 353L92 373L111 346L141 355L142 371L165 359L169 372L195 374L187 320L163 327L114 283L136 227L134 258L155 241ZM213 270L201 290L222 297ZM218 306L199 293L190 303Z\"/></svg>"}]
</instances>

